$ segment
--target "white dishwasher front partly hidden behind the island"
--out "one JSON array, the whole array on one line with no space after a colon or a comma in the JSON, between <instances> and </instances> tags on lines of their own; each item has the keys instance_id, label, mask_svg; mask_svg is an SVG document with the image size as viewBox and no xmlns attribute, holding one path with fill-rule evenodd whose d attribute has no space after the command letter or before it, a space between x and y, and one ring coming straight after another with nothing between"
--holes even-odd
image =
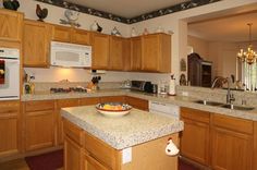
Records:
<instances>
[{"instance_id":1,"label":"white dishwasher front partly hidden behind the island","mask_svg":"<svg viewBox=\"0 0 257 170\"><path fill-rule=\"evenodd\" d=\"M180 107L171 104L159 101L149 101L149 111L160 113L174 119L180 119Z\"/></svg>"}]
</instances>

